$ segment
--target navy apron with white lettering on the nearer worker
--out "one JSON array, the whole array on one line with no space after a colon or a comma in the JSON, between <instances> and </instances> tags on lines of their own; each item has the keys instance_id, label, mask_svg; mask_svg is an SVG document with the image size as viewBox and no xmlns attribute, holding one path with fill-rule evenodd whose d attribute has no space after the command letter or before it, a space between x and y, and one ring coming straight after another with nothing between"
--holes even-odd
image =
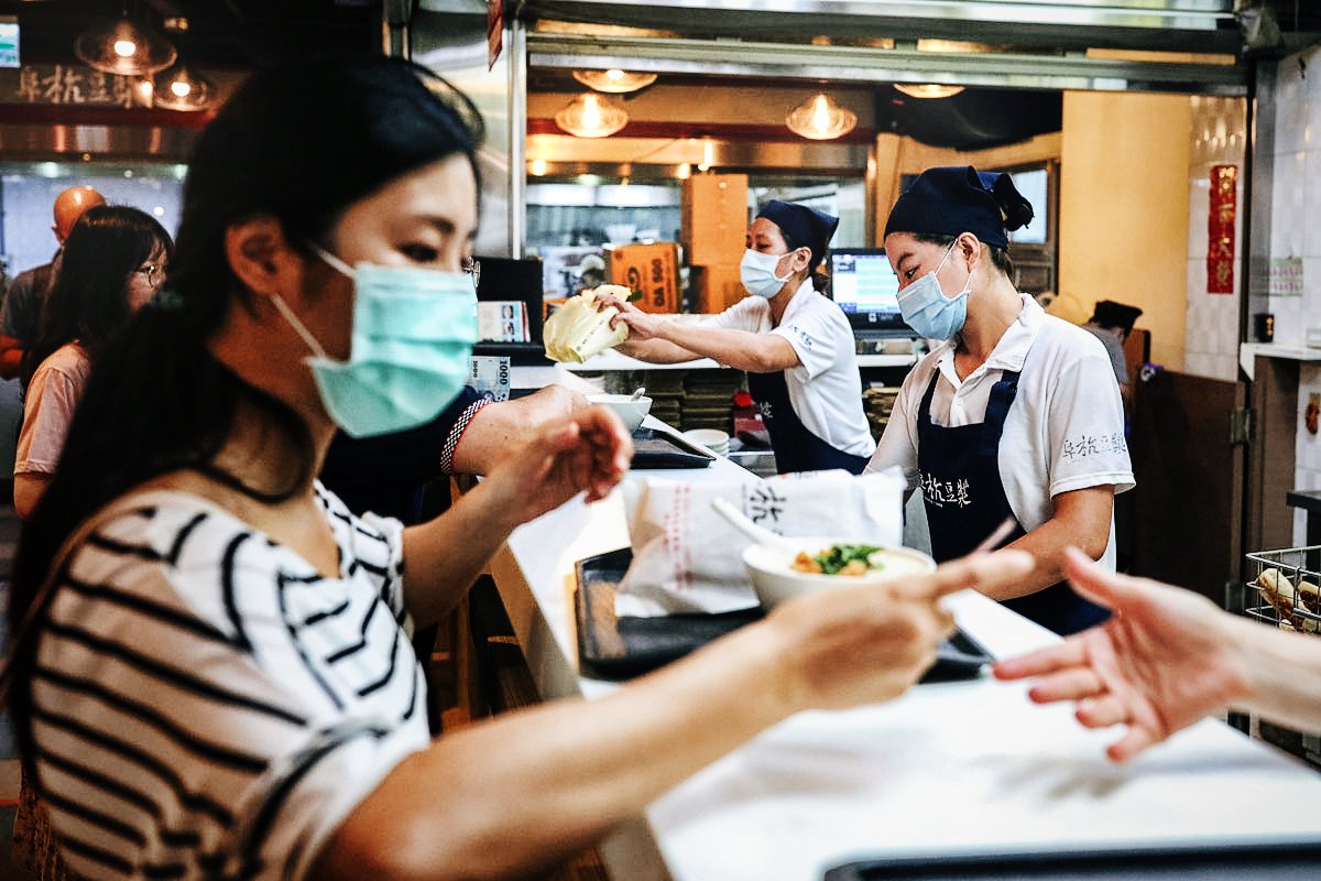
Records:
<instances>
[{"instance_id":1,"label":"navy apron with white lettering on the nearer worker","mask_svg":"<svg viewBox=\"0 0 1321 881\"><path fill-rule=\"evenodd\" d=\"M1015 516L1000 481L1000 436L1009 407L1018 394L1018 374L1005 372L991 387L985 421L942 428L931 423L931 396L939 371L922 396L917 413L917 468L931 530L931 556L943 563L968 553L1007 516ZM1021 523L1005 544L1025 535ZM1086 630L1110 612L1083 600L1061 581L1004 605L1059 635Z\"/></svg>"}]
</instances>

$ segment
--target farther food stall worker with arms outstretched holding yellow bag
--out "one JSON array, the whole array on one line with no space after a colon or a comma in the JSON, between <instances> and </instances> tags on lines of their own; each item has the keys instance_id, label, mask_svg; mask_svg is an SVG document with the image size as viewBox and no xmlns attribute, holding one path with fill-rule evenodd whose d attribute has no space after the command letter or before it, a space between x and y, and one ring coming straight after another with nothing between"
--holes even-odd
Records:
<instances>
[{"instance_id":1,"label":"farther food stall worker with arms outstretched holding yellow bag","mask_svg":"<svg viewBox=\"0 0 1321 881\"><path fill-rule=\"evenodd\" d=\"M820 291L815 272L839 218L806 205L768 202L748 230L740 277L748 296L701 324L649 314L616 297L629 325L620 351L675 363L713 358L748 371L775 468L781 473L843 468L860 474L876 449L863 412L853 330Z\"/></svg>"}]
</instances>

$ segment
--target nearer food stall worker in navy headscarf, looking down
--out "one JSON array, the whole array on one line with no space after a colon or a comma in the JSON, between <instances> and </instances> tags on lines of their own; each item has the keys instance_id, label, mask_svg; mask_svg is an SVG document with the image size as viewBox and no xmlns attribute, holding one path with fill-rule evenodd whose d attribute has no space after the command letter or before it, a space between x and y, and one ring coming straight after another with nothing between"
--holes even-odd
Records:
<instances>
[{"instance_id":1,"label":"nearer food stall worker in navy headscarf, looking down","mask_svg":"<svg viewBox=\"0 0 1321 881\"><path fill-rule=\"evenodd\" d=\"M921 489L937 560L1012 516L1032 576L991 596L1059 634L1107 616L1061 580L1075 544L1115 568L1114 497L1133 486L1124 411L1104 347L1013 284L1008 230L1032 206L1008 174L931 168L885 225L900 309L943 339L904 380L868 470Z\"/></svg>"}]
</instances>

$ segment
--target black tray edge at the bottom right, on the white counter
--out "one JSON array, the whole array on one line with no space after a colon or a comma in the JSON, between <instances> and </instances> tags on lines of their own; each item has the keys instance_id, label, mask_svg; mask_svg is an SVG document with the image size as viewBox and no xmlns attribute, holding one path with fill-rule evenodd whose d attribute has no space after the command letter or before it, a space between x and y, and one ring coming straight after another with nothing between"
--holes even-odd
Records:
<instances>
[{"instance_id":1,"label":"black tray edge at the bottom right, on the white counter","mask_svg":"<svg viewBox=\"0 0 1321 881\"><path fill-rule=\"evenodd\" d=\"M826 881L1303 881L1318 865L1314 841L1206 843L861 860L830 869Z\"/></svg>"}]
</instances>

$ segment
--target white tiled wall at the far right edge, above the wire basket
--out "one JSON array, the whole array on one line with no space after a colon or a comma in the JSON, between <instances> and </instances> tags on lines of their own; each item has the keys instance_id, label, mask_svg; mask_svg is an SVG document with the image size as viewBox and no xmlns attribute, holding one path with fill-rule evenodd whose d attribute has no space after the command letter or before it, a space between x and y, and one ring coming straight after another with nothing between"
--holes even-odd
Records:
<instances>
[{"instance_id":1,"label":"white tiled wall at the far right edge, above the wire basket","mask_svg":"<svg viewBox=\"0 0 1321 881\"><path fill-rule=\"evenodd\" d=\"M1303 258L1303 296L1272 296L1268 308L1275 314L1275 342L1299 347L1305 328L1321 326L1321 48L1280 61L1273 99L1271 256ZM1304 362L1295 460L1295 487L1304 490L1321 489L1321 435L1308 433L1304 424L1312 394L1321 394L1321 365ZM1295 512L1296 544L1305 539L1304 522Z\"/></svg>"}]
</instances>

